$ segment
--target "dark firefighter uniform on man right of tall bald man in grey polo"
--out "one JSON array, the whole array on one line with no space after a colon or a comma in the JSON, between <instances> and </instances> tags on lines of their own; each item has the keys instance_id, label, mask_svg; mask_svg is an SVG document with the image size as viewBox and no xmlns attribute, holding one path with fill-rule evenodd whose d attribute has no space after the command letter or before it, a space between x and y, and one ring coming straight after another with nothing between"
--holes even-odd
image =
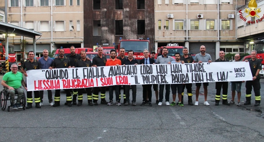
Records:
<instances>
[{"instance_id":1,"label":"dark firefighter uniform on man right of tall bald man in grey polo","mask_svg":"<svg viewBox=\"0 0 264 142\"><path fill-rule=\"evenodd\" d=\"M216 59L215 62L229 62L228 59ZM225 105L230 105L227 101L227 90L228 90L228 81L222 81L222 82L215 82L215 89L216 89L216 94L215 94L215 105L218 106L220 102L220 97L221 97L221 89L222 90L222 104Z\"/></svg>"}]
</instances>

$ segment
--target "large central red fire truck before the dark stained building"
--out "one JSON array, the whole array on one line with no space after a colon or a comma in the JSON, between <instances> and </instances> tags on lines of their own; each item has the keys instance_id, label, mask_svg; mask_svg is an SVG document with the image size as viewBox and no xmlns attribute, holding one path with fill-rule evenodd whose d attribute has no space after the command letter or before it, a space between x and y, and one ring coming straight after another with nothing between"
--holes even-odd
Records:
<instances>
[{"instance_id":1,"label":"large central red fire truck before the dark stained building","mask_svg":"<svg viewBox=\"0 0 264 142\"><path fill-rule=\"evenodd\" d=\"M150 42L149 38L147 40L144 40L142 38L140 39L122 39L120 38L118 45L115 46L116 52L120 50L120 48L125 48L125 55L128 55L129 50L134 51L134 58L140 61L140 59L144 58L143 55L143 50L148 49L148 51L151 52L150 50Z\"/></svg>"}]
</instances>

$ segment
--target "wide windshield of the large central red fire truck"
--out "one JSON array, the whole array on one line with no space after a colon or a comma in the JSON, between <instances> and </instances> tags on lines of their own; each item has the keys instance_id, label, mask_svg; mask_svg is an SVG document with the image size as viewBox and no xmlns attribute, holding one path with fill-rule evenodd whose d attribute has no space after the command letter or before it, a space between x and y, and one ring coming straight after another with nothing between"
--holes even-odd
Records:
<instances>
[{"instance_id":1,"label":"wide windshield of the large central red fire truck","mask_svg":"<svg viewBox=\"0 0 264 142\"><path fill-rule=\"evenodd\" d=\"M144 49L148 49L147 41L122 41L120 42L120 48L125 48L125 51L133 50L134 52L143 52Z\"/></svg>"}]
</instances>

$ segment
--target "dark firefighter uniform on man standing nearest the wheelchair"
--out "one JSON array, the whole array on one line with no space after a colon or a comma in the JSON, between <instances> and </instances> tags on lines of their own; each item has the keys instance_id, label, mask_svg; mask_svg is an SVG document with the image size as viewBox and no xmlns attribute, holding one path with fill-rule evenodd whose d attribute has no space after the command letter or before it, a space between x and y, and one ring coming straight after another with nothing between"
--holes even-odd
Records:
<instances>
[{"instance_id":1,"label":"dark firefighter uniform on man standing nearest the wheelchair","mask_svg":"<svg viewBox=\"0 0 264 142\"><path fill-rule=\"evenodd\" d=\"M22 69L26 71L38 70L40 68L41 68L40 63L36 59L34 59L33 62L30 62L30 60L28 59L22 66ZM34 100L36 103L36 108L41 108L39 106L40 103L39 91L34 91ZM26 91L26 102L27 102L26 108L32 108L32 103L33 103L32 91Z\"/></svg>"}]
</instances>

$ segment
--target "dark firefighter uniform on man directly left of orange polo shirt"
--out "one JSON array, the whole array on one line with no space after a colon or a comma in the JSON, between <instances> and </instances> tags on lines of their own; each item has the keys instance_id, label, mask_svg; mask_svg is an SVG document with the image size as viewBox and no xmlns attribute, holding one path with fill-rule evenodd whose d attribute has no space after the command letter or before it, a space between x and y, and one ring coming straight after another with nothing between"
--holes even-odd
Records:
<instances>
[{"instance_id":1,"label":"dark firefighter uniform on man directly left of orange polo shirt","mask_svg":"<svg viewBox=\"0 0 264 142\"><path fill-rule=\"evenodd\" d=\"M99 55L96 55L93 58L92 61L92 65L96 65L97 67L103 67L105 66L105 63L107 61L106 57L104 55L102 55L103 57L101 58ZM105 100L105 91L106 91L106 87L100 87L101 88L101 104L108 104L108 102ZM97 101L99 98L99 87L94 87L93 89L93 102L95 105L98 105Z\"/></svg>"}]
</instances>

